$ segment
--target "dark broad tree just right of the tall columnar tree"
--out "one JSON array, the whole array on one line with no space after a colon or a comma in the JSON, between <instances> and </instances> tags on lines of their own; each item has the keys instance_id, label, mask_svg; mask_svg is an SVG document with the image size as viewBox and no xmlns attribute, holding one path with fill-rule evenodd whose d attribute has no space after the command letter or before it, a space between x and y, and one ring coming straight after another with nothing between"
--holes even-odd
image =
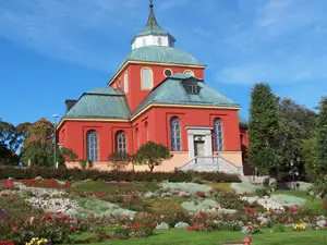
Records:
<instances>
[{"instance_id":1,"label":"dark broad tree just right of the tall columnar tree","mask_svg":"<svg viewBox=\"0 0 327 245\"><path fill-rule=\"evenodd\" d=\"M282 170L304 173L303 140L311 136L316 114L289 98L280 101L278 112ZM307 146L305 150L308 150Z\"/></svg>"}]
</instances>

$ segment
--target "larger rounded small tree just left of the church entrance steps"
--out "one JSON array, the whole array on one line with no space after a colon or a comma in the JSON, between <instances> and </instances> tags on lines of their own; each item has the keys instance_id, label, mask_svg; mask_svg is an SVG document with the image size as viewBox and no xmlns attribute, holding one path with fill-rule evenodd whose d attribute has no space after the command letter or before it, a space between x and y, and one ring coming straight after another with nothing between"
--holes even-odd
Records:
<instances>
[{"instance_id":1,"label":"larger rounded small tree just left of the church entrance steps","mask_svg":"<svg viewBox=\"0 0 327 245\"><path fill-rule=\"evenodd\" d=\"M160 166L164 160L168 160L171 157L166 146L148 142L137 150L135 162L136 164L147 164L150 172L153 172L156 166Z\"/></svg>"}]
</instances>

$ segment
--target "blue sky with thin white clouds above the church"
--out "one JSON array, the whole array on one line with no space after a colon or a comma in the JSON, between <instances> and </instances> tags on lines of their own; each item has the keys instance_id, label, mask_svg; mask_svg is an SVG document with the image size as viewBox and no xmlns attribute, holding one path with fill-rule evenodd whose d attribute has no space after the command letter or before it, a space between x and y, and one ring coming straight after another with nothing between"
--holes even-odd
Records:
<instances>
[{"instance_id":1,"label":"blue sky with thin white clouds above the church","mask_svg":"<svg viewBox=\"0 0 327 245\"><path fill-rule=\"evenodd\" d=\"M243 107L267 82L314 108L327 91L326 0L154 0L206 83ZM148 0L0 1L0 118L17 124L106 86L147 20Z\"/></svg>"}]
</instances>

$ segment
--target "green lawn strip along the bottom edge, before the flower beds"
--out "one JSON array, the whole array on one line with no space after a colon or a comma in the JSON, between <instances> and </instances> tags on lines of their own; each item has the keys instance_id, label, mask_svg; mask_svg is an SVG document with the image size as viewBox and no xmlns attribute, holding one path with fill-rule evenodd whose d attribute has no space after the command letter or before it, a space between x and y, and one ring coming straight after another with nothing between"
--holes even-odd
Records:
<instances>
[{"instance_id":1,"label":"green lawn strip along the bottom edge, before the flower beds","mask_svg":"<svg viewBox=\"0 0 327 245\"><path fill-rule=\"evenodd\" d=\"M148 238L131 238L122 241L108 241L106 243L94 243L93 245L113 244L144 244L144 245L219 245L223 242L241 242L246 235L241 232L187 232L181 230L169 230L157 232ZM270 233L265 230L264 234L252 236L252 245L326 245L327 231L305 232L281 232Z\"/></svg>"}]
</instances>

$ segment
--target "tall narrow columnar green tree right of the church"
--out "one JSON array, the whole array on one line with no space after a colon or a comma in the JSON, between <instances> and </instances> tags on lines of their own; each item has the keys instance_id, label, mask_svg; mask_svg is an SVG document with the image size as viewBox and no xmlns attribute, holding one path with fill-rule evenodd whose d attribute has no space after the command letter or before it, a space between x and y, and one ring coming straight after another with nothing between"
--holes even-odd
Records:
<instances>
[{"instance_id":1,"label":"tall narrow columnar green tree right of the church","mask_svg":"<svg viewBox=\"0 0 327 245\"><path fill-rule=\"evenodd\" d=\"M256 84L251 94L249 161L261 173L276 175L282 162L278 98L268 84Z\"/></svg>"}]
</instances>

